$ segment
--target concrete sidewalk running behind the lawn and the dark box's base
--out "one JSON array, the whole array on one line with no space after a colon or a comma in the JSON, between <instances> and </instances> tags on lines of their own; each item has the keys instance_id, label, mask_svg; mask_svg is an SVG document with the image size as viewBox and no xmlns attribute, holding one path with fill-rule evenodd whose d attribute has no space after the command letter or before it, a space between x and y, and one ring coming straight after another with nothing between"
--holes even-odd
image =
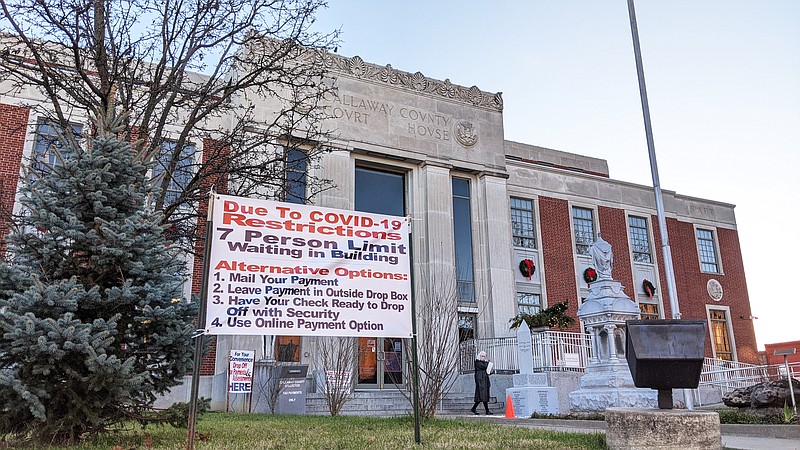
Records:
<instances>
[{"instance_id":1,"label":"concrete sidewalk running behind the lawn and the dark box's base","mask_svg":"<svg viewBox=\"0 0 800 450\"><path fill-rule=\"evenodd\" d=\"M606 423L602 420L563 420L563 419L506 419L503 415L449 416L496 425L518 426L541 430L564 431L568 433L605 433ZM728 449L741 450L800 450L800 426L797 425L720 425L722 445Z\"/></svg>"}]
</instances>

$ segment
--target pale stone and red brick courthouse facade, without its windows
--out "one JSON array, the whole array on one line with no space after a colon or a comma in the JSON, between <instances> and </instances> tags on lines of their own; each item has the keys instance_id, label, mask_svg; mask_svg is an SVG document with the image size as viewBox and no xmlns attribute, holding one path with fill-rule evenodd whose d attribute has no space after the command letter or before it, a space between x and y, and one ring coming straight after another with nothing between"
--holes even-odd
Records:
<instances>
[{"instance_id":1,"label":"pale stone and red brick courthouse facade, without its windows","mask_svg":"<svg viewBox=\"0 0 800 450\"><path fill-rule=\"evenodd\" d=\"M461 304L460 310L475 314L475 337L513 336L508 321L517 314L520 292L538 296L542 308L567 300L569 314L577 316L580 301L588 293L582 274L590 261L576 251L574 207L591 211L595 234L602 233L613 245L614 273L632 300L654 305L658 317L671 317L665 301L666 279L652 188L609 178L608 165L602 159L506 141L499 93L433 80L390 65L372 65L358 57L327 58L338 91L324 105L333 151L311 170L332 180L335 187L317 196L315 203L353 209L357 167L402 174L406 210L413 218L415 270L429 269L439 271L441 277L452 277L455 245L451 180L468 180L475 302ZM37 120L26 105L36 102L43 99L31 90L0 96L3 236L23 161L31 154ZM253 106L267 114L276 105L264 102ZM199 145L198 151L202 148ZM513 245L512 197L531 202L533 247ZM664 191L664 202L683 317L710 320L709 309L723 311L734 345L733 358L757 363L752 320L742 319L752 315L734 206L671 191ZM628 225L631 216L645 219L652 262L634 257ZM698 227L713 231L721 263L718 273L700 270L695 237ZM534 261L533 276L520 274L522 259ZM193 260L192 266L191 290L197 292L201 261ZM645 279L655 287L652 297L641 287ZM710 280L723 287L722 298L710 297ZM568 331L580 327L576 323ZM303 340L301 363L313 363L310 341ZM203 392L213 394L215 401L225 398L226 355L231 348L255 349L257 358L271 351L265 350L259 337L220 336L203 366L203 375L213 375L213 381L206 380ZM706 354L715 355L710 336Z\"/></svg>"}]
</instances>

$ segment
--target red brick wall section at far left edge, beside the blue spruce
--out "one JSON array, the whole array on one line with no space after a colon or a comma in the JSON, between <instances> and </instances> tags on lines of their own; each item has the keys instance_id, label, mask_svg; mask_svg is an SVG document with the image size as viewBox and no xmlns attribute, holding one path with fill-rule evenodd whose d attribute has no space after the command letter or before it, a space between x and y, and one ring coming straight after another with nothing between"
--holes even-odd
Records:
<instances>
[{"instance_id":1,"label":"red brick wall section at far left edge, beside the blue spruce","mask_svg":"<svg viewBox=\"0 0 800 450\"><path fill-rule=\"evenodd\" d=\"M29 113L28 108L0 104L0 254L6 250Z\"/></svg>"}]
</instances>

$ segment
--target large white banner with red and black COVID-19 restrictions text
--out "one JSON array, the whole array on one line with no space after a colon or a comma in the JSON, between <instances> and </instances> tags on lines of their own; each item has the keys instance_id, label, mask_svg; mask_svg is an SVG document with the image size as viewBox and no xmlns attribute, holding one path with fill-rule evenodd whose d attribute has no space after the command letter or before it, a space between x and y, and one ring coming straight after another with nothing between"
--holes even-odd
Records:
<instances>
[{"instance_id":1,"label":"large white banner with red and black COVID-19 restrictions text","mask_svg":"<svg viewBox=\"0 0 800 450\"><path fill-rule=\"evenodd\" d=\"M411 337L408 219L214 195L206 333Z\"/></svg>"}]
</instances>

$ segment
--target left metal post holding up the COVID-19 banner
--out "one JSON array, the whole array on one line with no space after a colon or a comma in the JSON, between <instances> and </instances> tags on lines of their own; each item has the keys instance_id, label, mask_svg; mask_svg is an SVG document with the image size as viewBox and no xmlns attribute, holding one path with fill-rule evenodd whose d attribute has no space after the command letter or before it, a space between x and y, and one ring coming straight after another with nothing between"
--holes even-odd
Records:
<instances>
[{"instance_id":1,"label":"left metal post holding up the COVID-19 banner","mask_svg":"<svg viewBox=\"0 0 800 450\"><path fill-rule=\"evenodd\" d=\"M214 227L214 191L208 194L208 216L206 217L206 242L203 245L203 282L200 285L200 307L197 311L197 330L194 334L194 366L192 367L192 390L189 400L188 450L194 450L194 429L197 424L197 394L200 389L200 366L203 361L203 337L206 325L206 302L208 301L208 272L211 260L211 239Z\"/></svg>"}]
</instances>

